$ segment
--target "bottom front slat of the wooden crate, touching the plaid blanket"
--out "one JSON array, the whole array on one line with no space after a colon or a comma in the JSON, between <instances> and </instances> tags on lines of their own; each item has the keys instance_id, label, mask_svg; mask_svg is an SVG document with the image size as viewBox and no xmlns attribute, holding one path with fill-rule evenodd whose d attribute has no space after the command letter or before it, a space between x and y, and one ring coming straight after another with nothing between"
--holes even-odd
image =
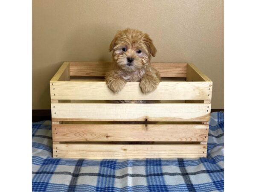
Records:
<instances>
[{"instance_id":1,"label":"bottom front slat of the wooden crate, touching the plaid blanket","mask_svg":"<svg viewBox=\"0 0 256 192\"><path fill-rule=\"evenodd\" d=\"M53 157L88 159L198 158L206 145L53 144Z\"/></svg>"}]
</instances>

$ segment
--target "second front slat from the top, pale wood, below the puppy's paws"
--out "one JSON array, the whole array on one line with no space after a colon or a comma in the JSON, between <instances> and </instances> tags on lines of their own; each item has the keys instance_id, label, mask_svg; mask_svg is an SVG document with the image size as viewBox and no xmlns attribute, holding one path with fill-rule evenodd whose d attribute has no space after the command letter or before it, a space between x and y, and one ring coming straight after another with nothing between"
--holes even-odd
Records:
<instances>
[{"instance_id":1,"label":"second front slat from the top, pale wood, below the puppy's paws","mask_svg":"<svg viewBox=\"0 0 256 192\"><path fill-rule=\"evenodd\" d=\"M51 107L54 121L209 121L211 104L52 103Z\"/></svg>"}]
</instances>

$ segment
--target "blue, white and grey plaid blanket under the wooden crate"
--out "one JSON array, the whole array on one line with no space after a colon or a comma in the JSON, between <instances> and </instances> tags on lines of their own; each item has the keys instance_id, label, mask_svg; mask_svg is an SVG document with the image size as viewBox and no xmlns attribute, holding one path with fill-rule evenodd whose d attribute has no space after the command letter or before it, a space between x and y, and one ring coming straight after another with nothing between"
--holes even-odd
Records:
<instances>
[{"instance_id":1,"label":"blue, white and grey plaid blanket under the wooden crate","mask_svg":"<svg viewBox=\"0 0 256 192\"><path fill-rule=\"evenodd\" d=\"M34 192L224 191L224 113L211 113L207 158L52 158L51 121L32 124Z\"/></svg>"}]
</instances>

